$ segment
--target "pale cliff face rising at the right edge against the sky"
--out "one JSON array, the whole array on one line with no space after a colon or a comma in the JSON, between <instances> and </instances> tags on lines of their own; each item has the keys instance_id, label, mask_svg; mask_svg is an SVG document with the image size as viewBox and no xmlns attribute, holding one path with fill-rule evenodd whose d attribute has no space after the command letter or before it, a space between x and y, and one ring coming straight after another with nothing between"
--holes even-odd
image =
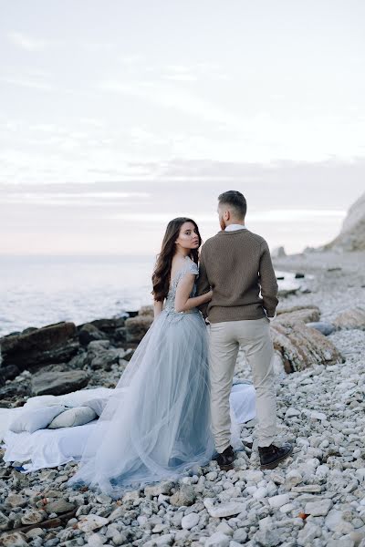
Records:
<instances>
[{"instance_id":1,"label":"pale cliff face rising at the right edge against the sky","mask_svg":"<svg viewBox=\"0 0 365 547\"><path fill-rule=\"evenodd\" d=\"M334 248L365 251L365 193L349 208L337 238L325 246L325 249Z\"/></svg>"}]
</instances>

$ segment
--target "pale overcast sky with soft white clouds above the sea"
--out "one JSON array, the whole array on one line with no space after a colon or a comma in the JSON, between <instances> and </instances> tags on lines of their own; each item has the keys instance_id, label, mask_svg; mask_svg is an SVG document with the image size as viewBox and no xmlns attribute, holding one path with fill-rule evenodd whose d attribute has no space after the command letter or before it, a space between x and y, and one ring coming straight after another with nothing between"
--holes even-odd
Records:
<instances>
[{"instance_id":1,"label":"pale overcast sky with soft white clouds above the sea","mask_svg":"<svg viewBox=\"0 0 365 547\"><path fill-rule=\"evenodd\" d=\"M158 251L166 222L297 252L365 188L362 0L0 0L0 253Z\"/></svg>"}]
</instances>

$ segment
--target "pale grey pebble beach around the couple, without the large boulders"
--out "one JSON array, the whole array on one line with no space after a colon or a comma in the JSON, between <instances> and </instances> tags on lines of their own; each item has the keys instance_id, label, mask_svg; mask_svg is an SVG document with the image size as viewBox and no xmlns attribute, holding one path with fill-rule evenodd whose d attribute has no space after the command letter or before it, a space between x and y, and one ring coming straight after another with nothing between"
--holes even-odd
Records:
<instances>
[{"instance_id":1,"label":"pale grey pebble beach around the couple, without the large boulders","mask_svg":"<svg viewBox=\"0 0 365 547\"><path fill-rule=\"evenodd\" d=\"M365 253L312 252L274 262L305 275L305 290L281 299L281 307L316 305L328 323L365 310ZM23 474L1 459L0 544L364 547L365 322L337 328L328 339L343 362L277 372L278 440L293 442L294 452L275 470L259 469L255 422L242 431L234 470L212 461L118 501L68 488L76 462ZM92 384L112 387L121 372L118 365L98 371ZM236 376L250 377L242 354Z\"/></svg>"}]
</instances>

